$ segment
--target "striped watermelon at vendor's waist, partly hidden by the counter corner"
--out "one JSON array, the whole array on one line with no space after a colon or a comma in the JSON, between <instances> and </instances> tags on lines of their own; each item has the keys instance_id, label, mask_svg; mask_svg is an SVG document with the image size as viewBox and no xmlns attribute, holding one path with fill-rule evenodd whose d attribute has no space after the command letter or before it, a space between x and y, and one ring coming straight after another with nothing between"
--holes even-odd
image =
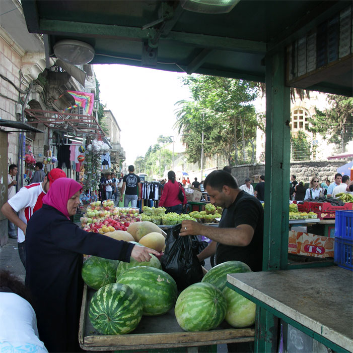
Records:
<instances>
[{"instance_id":1,"label":"striped watermelon at vendor's waist, partly hidden by the counter corner","mask_svg":"<svg viewBox=\"0 0 353 353\"><path fill-rule=\"evenodd\" d=\"M211 268L201 282L214 284L221 291L226 287L228 273L251 272L251 268L241 261L227 261Z\"/></svg>"}]
</instances>

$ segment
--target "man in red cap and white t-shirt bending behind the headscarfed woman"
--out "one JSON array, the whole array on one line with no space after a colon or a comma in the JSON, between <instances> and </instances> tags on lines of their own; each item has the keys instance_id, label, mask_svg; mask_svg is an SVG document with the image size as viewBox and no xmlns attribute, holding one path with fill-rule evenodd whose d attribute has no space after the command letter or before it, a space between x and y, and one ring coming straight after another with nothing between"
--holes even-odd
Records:
<instances>
[{"instance_id":1,"label":"man in red cap and white t-shirt bending behind the headscarfed woman","mask_svg":"<svg viewBox=\"0 0 353 353\"><path fill-rule=\"evenodd\" d=\"M48 192L50 186L56 179L66 178L62 169L54 168L50 170L42 183L27 185L3 205L1 211L11 222L18 226L18 250L23 266L26 268L26 228L27 222L32 214L43 205L43 197ZM19 212L19 215L17 215Z\"/></svg>"}]
</instances>

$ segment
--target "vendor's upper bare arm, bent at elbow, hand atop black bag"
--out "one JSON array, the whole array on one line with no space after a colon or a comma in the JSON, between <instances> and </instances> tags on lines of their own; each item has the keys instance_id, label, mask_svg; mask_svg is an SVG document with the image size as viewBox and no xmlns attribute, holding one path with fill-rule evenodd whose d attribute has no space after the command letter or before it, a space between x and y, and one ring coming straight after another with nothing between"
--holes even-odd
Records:
<instances>
[{"instance_id":1,"label":"vendor's upper bare arm, bent at elbow, hand atop black bag","mask_svg":"<svg viewBox=\"0 0 353 353\"><path fill-rule=\"evenodd\" d=\"M202 225L191 220L183 220L180 236L201 235L225 245L246 247L254 236L254 228L249 224L240 224L235 228L216 228Z\"/></svg>"}]
</instances>

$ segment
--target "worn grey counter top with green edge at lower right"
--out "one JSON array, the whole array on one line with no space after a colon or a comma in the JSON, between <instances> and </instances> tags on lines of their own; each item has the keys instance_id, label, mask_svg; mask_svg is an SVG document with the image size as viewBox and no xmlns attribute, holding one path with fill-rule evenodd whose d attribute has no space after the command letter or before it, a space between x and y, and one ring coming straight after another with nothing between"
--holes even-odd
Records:
<instances>
[{"instance_id":1,"label":"worn grey counter top with green edge at lower right","mask_svg":"<svg viewBox=\"0 0 353 353\"><path fill-rule=\"evenodd\" d=\"M320 267L227 275L227 285L335 351L353 350L353 272Z\"/></svg>"}]
</instances>

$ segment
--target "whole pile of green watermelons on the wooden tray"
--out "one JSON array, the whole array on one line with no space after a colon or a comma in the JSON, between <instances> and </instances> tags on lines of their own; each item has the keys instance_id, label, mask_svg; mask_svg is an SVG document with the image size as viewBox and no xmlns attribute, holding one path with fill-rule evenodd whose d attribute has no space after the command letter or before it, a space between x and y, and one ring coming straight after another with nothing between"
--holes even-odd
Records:
<instances>
[{"instance_id":1,"label":"whole pile of green watermelons on the wooden tray","mask_svg":"<svg viewBox=\"0 0 353 353\"><path fill-rule=\"evenodd\" d=\"M179 296L174 279L161 268L153 255L150 262L138 263L131 258L129 264L88 258L82 277L98 289L88 310L93 327L103 335L128 333L143 315L163 315L174 305L176 320L185 331L211 330L223 320L234 327L255 323L255 304L226 287L227 273L251 272L243 262L215 266Z\"/></svg>"}]
</instances>

